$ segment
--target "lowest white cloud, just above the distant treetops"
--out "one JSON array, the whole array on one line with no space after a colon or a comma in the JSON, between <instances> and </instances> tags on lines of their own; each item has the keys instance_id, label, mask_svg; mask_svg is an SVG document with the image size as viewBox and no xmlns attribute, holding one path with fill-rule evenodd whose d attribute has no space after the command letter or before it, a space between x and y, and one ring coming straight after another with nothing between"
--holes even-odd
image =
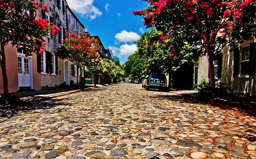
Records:
<instances>
[{"instance_id":1,"label":"lowest white cloud, just above the distant treetops","mask_svg":"<svg viewBox=\"0 0 256 159\"><path fill-rule=\"evenodd\" d=\"M134 51L137 50L137 45L136 44L124 44L121 45L120 48L116 46L108 46L108 48L113 52L114 56L117 57L128 57L129 55L133 54Z\"/></svg>"}]
</instances>

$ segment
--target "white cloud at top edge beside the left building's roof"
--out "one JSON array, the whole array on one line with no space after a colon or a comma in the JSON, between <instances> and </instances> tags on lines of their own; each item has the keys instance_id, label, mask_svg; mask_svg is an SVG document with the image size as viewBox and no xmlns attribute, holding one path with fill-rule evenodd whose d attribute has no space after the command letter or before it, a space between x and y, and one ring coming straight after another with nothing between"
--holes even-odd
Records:
<instances>
[{"instance_id":1,"label":"white cloud at top edge beside the left building's roof","mask_svg":"<svg viewBox=\"0 0 256 159\"><path fill-rule=\"evenodd\" d=\"M94 0L67 0L72 11L80 14L82 17L90 18L90 20L100 17L102 12L96 6L93 6Z\"/></svg>"}]
</instances>

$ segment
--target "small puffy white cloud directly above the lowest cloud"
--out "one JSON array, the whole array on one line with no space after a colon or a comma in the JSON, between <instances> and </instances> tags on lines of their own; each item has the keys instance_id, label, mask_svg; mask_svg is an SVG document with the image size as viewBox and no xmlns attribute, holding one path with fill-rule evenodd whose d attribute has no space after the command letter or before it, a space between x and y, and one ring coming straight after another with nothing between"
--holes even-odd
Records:
<instances>
[{"instance_id":1,"label":"small puffy white cloud directly above the lowest cloud","mask_svg":"<svg viewBox=\"0 0 256 159\"><path fill-rule=\"evenodd\" d=\"M123 43L129 43L134 42L140 39L140 35L138 35L135 32L127 32L126 30L121 31L120 33L117 33L115 35L115 42L123 42Z\"/></svg>"}]
</instances>

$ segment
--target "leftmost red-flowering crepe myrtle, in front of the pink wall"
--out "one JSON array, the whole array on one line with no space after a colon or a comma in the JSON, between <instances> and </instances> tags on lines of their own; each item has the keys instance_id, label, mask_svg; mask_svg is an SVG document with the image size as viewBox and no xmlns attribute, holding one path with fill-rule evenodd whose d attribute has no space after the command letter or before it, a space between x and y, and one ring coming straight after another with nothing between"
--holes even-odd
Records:
<instances>
[{"instance_id":1,"label":"leftmost red-flowering crepe myrtle, in front of the pink wall","mask_svg":"<svg viewBox=\"0 0 256 159\"><path fill-rule=\"evenodd\" d=\"M48 12L45 4L35 0L0 0L0 67L3 75L3 91L8 94L5 46L11 44L23 49L26 56L44 52L44 37L60 31L49 20L36 18L38 9Z\"/></svg>"}]
</instances>

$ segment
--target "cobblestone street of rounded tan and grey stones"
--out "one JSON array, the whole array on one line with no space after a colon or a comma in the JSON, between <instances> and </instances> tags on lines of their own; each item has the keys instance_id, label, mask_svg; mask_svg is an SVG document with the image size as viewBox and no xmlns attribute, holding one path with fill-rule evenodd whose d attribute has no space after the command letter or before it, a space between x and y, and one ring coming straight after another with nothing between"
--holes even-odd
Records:
<instances>
[{"instance_id":1,"label":"cobblestone street of rounded tan and grey stones","mask_svg":"<svg viewBox=\"0 0 256 159\"><path fill-rule=\"evenodd\" d=\"M65 95L5 115L0 159L256 159L250 112L136 84Z\"/></svg>"}]
</instances>

